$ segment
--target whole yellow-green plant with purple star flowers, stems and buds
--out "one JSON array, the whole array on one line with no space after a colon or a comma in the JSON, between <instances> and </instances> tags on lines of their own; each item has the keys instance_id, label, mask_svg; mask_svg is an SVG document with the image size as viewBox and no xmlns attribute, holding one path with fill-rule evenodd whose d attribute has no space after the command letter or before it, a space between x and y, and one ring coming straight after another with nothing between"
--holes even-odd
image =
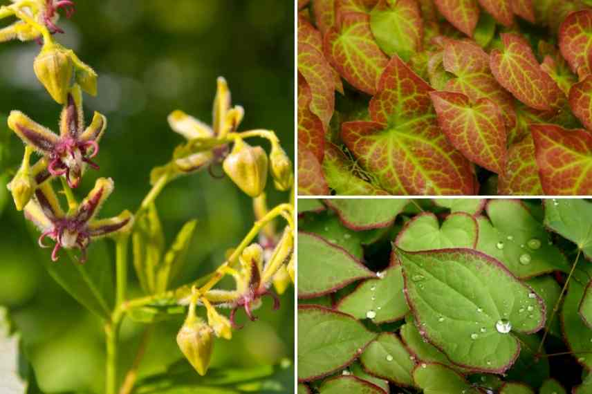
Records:
<instances>
[{"instance_id":1,"label":"whole yellow-green plant with purple star flowers, stems and buds","mask_svg":"<svg viewBox=\"0 0 592 394\"><path fill-rule=\"evenodd\" d=\"M59 134L20 111L10 113L8 127L26 147L21 167L15 171L8 189L17 210L23 211L25 218L41 231L39 246L50 247L47 238L53 241L53 252L46 256L53 263L44 261L50 274L104 322L107 343L104 393L147 392L154 387L172 391L207 387L208 392L226 393L229 392L226 388L238 387L243 382L249 382L252 388L264 386L266 379L277 373L277 368L253 368L243 373L228 370L224 372L228 374L225 379L196 379L195 371L201 376L207 374L216 337L230 340L233 330L242 327L235 321L238 310L244 310L248 318L255 321L254 310L261 306L264 296L270 296L274 308L279 308L279 299L272 287L281 294L293 282L295 224L290 159L273 131L239 131L244 110L241 106L232 106L228 85L219 77L211 125L180 110L169 115L169 126L182 135L185 142L176 147L169 162L151 171L151 189L136 212L125 210L113 218L97 218L114 191L113 179L98 178L95 187L81 202L75 197L75 189L86 176L86 169L99 169L99 142L107 129L107 118L95 113L90 124L85 125L82 93L97 94L98 75L72 50L55 41L55 33L64 32L57 26L57 11L61 8L71 17L75 4L70 0L15 0L10 6L0 7L0 18L17 19L0 30L0 40L37 41L41 51L33 64L35 74L53 100L62 104ZM270 142L270 153L248 144L246 140L250 138ZM32 162L33 153L40 156L35 162ZM172 180L202 169L208 169L215 177L220 177L215 173L223 170L221 176L228 176L252 198L256 221L214 272L172 288L178 272L191 260L187 250L197 221L187 222L172 245L165 247L156 198ZM290 192L285 203L272 208L266 203L268 178L272 178L275 189ZM60 190L56 192L58 180ZM279 221L285 224L279 227ZM113 265L95 259L92 249L87 256L89 245L102 237L115 241L115 288L107 285L111 283ZM142 297L133 299L127 294L130 238L133 268L144 292ZM67 256L60 252L62 249ZM80 257L71 253L74 249L80 250ZM226 276L234 281L230 289L220 285ZM203 313L198 313L198 308L203 308ZM229 317L221 312L223 308L230 309ZM176 366L165 376L149 377L137 384L137 368L145 341L122 381L123 374L116 370L122 319L129 317L151 326L183 314L187 318L176 339L194 368L192 373L187 370L178 373ZM216 389L217 386L224 388Z\"/></svg>"}]
</instances>

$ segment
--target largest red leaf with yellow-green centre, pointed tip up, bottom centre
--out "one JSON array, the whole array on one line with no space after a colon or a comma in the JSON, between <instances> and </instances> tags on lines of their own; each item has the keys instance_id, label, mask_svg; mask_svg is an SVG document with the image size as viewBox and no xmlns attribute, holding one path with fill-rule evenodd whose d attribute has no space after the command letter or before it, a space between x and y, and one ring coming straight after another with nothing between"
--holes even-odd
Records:
<instances>
[{"instance_id":1,"label":"largest red leaf with yellow-green centre, pointed tip up, bottom centre","mask_svg":"<svg viewBox=\"0 0 592 394\"><path fill-rule=\"evenodd\" d=\"M395 55L370 102L372 122L345 122L342 139L391 194L474 194L470 163L439 129L430 91Z\"/></svg>"}]
</instances>

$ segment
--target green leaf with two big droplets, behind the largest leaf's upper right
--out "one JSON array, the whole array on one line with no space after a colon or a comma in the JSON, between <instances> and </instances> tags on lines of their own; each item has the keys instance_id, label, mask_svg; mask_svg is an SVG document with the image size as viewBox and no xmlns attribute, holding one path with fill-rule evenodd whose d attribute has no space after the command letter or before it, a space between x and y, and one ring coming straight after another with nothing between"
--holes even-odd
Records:
<instances>
[{"instance_id":1,"label":"green leaf with two big droplets, behind the largest leaf's upper right","mask_svg":"<svg viewBox=\"0 0 592 394\"><path fill-rule=\"evenodd\" d=\"M565 256L549 245L542 223L519 200L490 200L487 218L478 218L477 250L501 261L519 278L569 270Z\"/></svg>"}]
</instances>

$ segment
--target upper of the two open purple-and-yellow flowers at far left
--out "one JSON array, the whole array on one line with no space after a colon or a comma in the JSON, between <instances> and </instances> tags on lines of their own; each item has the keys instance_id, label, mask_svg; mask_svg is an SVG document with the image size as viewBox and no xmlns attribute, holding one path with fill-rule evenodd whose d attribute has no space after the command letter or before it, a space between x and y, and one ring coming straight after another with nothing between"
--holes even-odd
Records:
<instances>
[{"instance_id":1,"label":"upper of the two open purple-and-yellow flowers at far left","mask_svg":"<svg viewBox=\"0 0 592 394\"><path fill-rule=\"evenodd\" d=\"M95 112L93 121L84 129L82 93L75 84L68 93L59 122L57 135L37 124L24 113L12 111L8 126L28 146L41 153L47 161L47 170L52 176L65 176L70 187L80 184L86 165L98 169L91 161L99 152L99 140L107 127L107 118Z\"/></svg>"}]
</instances>

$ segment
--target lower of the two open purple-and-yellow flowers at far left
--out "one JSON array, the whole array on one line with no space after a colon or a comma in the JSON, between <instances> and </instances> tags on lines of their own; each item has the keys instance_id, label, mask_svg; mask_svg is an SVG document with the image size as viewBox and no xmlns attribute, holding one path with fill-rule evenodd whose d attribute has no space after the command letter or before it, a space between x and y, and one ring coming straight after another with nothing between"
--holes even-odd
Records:
<instances>
[{"instance_id":1,"label":"lower of the two open purple-and-yellow flowers at far left","mask_svg":"<svg viewBox=\"0 0 592 394\"><path fill-rule=\"evenodd\" d=\"M127 210L119 216L107 219L95 219L101 205L113 191L111 178L99 178L89 195L64 212L59 205L57 195L50 182L45 182L35 190L35 196L25 207L25 217L35 223L41 230L39 246L48 247L44 239L49 237L55 241L51 259L57 261L59 250L80 249L81 262L86 260L86 248L93 238L114 235L131 226L133 218Z\"/></svg>"}]
</instances>

